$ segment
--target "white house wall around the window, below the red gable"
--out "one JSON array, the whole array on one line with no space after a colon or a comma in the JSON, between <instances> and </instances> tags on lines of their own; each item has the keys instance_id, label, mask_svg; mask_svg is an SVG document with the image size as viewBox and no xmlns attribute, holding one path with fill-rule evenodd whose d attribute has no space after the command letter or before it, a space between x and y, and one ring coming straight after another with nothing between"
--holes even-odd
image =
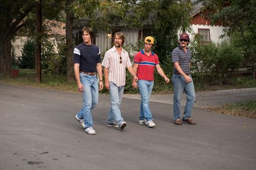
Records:
<instances>
[{"instance_id":1,"label":"white house wall around the window, below the red gable","mask_svg":"<svg viewBox=\"0 0 256 170\"><path fill-rule=\"evenodd\" d=\"M210 26L210 25L191 25L192 33L188 33L189 36L191 36L191 39L193 39L193 34L198 33L198 29L209 29L210 31L210 41L213 41L215 43L220 43L222 41L228 40L229 37L225 36L224 38L220 38L220 36L223 34L224 27L222 26Z\"/></svg>"}]
</instances>

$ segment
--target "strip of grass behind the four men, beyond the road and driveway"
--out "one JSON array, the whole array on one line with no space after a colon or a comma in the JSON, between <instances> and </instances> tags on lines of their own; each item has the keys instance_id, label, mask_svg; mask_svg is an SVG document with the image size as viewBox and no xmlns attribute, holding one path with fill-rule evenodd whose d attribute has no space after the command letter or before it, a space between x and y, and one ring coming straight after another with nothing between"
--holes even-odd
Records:
<instances>
[{"instance_id":1,"label":"strip of grass behind the four men, beyond the road and driveway","mask_svg":"<svg viewBox=\"0 0 256 170\"><path fill-rule=\"evenodd\" d=\"M170 78L170 83L166 84L164 79L159 75L155 75L155 83L152 94L170 94L173 91L171 75L168 75ZM193 76L193 75L192 75ZM216 91L216 90L225 90L232 88L252 88L256 87L256 80L246 77L230 78L228 83L225 85L219 86L210 86L210 82L203 81L196 77L194 84L196 91ZM19 75L15 78L7 78L0 76L0 82L16 84L20 86L34 86L40 88L52 88L56 90L63 91L74 91L77 92L77 85L75 80L73 82L66 82L65 75L54 75L54 74L42 74L42 83L35 83L35 70L30 69L19 69ZM107 90L102 90L101 94L107 94ZM138 90L134 90L131 87L131 75L127 73L126 94L138 94Z\"/></svg>"}]
</instances>

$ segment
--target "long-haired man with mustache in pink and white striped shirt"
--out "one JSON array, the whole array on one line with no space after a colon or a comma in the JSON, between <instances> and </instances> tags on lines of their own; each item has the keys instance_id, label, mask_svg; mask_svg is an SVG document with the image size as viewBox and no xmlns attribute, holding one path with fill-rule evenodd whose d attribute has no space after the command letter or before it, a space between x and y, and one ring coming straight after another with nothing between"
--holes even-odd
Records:
<instances>
[{"instance_id":1,"label":"long-haired man with mustache in pink and white striped shirt","mask_svg":"<svg viewBox=\"0 0 256 170\"><path fill-rule=\"evenodd\" d=\"M125 88L126 67L133 75L134 81L138 78L133 71L129 54L122 48L125 43L125 35L122 32L115 33L114 46L109 49L101 63L104 66L105 88L109 90L111 108L107 126L118 127L121 130L125 128L127 123L123 121L119 105L122 101L123 90Z\"/></svg>"}]
</instances>

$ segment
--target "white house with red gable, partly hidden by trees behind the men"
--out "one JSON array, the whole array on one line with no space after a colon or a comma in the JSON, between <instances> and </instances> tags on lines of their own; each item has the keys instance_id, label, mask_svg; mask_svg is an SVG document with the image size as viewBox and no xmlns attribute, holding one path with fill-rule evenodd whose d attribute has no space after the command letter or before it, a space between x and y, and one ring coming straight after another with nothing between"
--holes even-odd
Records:
<instances>
[{"instance_id":1,"label":"white house with red gable, partly hidden by trees behind the men","mask_svg":"<svg viewBox=\"0 0 256 170\"><path fill-rule=\"evenodd\" d=\"M191 22L191 32L189 32L189 36L193 40L193 36L198 33L202 37L202 42L209 42L213 41L215 43L222 42L224 40L228 40L228 37L220 38L220 36L223 34L222 25L216 24L211 26L210 21L206 20L202 17L202 11L201 7L203 7L203 3L197 3L195 6L193 6L193 10L191 12L192 16L192 22ZM151 25L151 17L149 17L148 20L145 20L142 25ZM109 49L112 46L112 35L117 32L122 31L125 33L126 36L126 44L136 44L139 39L142 39L142 37L151 35L151 29L143 29L143 28L124 28L119 27L119 29L116 29L112 32L99 32L96 35L95 43L96 45L100 46L102 51L105 51L106 49ZM181 32L178 32L178 36L181 34Z\"/></svg>"}]
</instances>

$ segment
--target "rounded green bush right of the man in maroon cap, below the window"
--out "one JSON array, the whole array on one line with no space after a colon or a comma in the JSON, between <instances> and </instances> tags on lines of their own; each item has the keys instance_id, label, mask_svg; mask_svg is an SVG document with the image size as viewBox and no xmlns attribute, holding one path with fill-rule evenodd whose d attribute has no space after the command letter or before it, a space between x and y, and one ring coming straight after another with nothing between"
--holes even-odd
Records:
<instances>
[{"instance_id":1,"label":"rounded green bush right of the man in maroon cap, below the window","mask_svg":"<svg viewBox=\"0 0 256 170\"><path fill-rule=\"evenodd\" d=\"M231 73L241 66L242 53L232 44L200 44L198 39L191 43L192 73L196 73L200 82L222 84L227 82Z\"/></svg>"}]
</instances>

